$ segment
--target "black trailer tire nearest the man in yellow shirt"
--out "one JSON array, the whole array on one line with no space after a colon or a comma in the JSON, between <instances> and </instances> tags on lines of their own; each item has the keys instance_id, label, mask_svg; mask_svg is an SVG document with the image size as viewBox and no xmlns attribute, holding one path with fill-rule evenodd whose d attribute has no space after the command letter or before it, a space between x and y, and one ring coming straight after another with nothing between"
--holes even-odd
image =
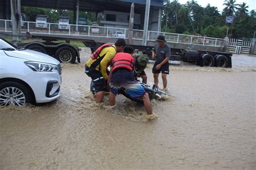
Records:
<instances>
[{"instance_id":1,"label":"black trailer tire nearest the man in yellow shirt","mask_svg":"<svg viewBox=\"0 0 256 170\"><path fill-rule=\"evenodd\" d=\"M69 46L58 47L54 56L60 62L71 62L71 63L74 63L76 61L76 53Z\"/></svg>"}]
</instances>

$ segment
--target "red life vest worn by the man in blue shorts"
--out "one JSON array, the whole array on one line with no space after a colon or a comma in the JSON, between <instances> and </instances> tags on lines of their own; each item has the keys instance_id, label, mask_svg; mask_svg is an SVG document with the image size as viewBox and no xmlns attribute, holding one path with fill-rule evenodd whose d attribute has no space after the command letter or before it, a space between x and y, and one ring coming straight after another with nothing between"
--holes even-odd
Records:
<instances>
[{"instance_id":1,"label":"red life vest worn by the man in blue shorts","mask_svg":"<svg viewBox=\"0 0 256 170\"><path fill-rule=\"evenodd\" d=\"M118 68L127 68L130 72L133 70L134 58L129 53L117 53L113 60L112 71Z\"/></svg>"}]
</instances>

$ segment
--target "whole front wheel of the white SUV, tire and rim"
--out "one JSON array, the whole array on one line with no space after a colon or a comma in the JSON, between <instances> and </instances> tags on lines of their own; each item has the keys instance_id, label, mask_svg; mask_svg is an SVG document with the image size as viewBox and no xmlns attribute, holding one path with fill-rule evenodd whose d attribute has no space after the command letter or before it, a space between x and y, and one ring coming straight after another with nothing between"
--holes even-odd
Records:
<instances>
[{"instance_id":1,"label":"whole front wheel of the white SUV, tire and rim","mask_svg":"<svg viewBox=\"0 0 256 170\"><path fill-rule=\"evenodd\" d=\"M23 84L8 81L0 84L0 106L32 104L32 96Z\"/></svg>"}]
</instances>

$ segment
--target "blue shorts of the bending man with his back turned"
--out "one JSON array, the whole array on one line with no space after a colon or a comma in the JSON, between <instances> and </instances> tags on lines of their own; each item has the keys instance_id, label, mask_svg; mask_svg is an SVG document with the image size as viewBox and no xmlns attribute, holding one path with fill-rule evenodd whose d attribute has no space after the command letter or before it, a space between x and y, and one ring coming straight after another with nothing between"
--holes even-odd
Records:
<instances>
[{"instance_id":1,"label":"blue shorts of the bending man with his back turned","mask_svg":"<svg viewBox=\"0 0 256 170\"><path fill-rule=\"evenodd\" d=\"M134 79L134 75L127 69L118 69L110 78L110 91L117 95L118 88L123 87L132 98L141 98L146 91L139 82Z\"/></svg>"}]
</instances>

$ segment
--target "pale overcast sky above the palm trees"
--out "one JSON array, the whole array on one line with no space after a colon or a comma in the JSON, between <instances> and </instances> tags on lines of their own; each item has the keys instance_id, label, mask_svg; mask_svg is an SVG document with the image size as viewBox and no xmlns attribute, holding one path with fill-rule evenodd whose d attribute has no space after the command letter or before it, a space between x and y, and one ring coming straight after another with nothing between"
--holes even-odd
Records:
<instances>
[{"instance_id":1,"label":"pale overcast sky above the palm trees","mask_svg":"<svg viewBox=\"0 0 256 170\"><path fill-rule=\"evenodd\" d=\"M178 0L180 4L185 4L188 0ZM215 6L218 8L219 12L222 12L225 8L224 1L225 0L212 0L212 1L206 1L206 0L195 0L200 6L205 7L207 4L210 3L211 6ZM172 0L171 0L172 2ZM248 11L256 10L256 1L255 0L236 0L236 4L242 4L246 3L247 6L249 6Z\"/></svg>"}]
</instances>

